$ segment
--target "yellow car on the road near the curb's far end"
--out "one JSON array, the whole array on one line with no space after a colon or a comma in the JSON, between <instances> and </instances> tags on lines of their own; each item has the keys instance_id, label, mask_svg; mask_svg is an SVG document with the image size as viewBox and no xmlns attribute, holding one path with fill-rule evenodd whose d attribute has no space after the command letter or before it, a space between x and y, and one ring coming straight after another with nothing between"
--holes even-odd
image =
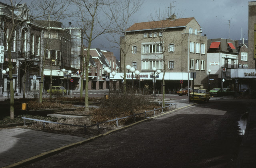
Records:
<instances>
[{"instance_id":1,"label":"yellow car on the road near the curb's far end","mask_svg":"<svg viewBox=\"0 0 256 168\"><path fill-rule=\"evenodd\" d=\"M189 96L189 100L192 101L194 97L194 101L199 102L209 102L211 96L208 90L206 89L194 89L194 92L192 92Z\"/></svg>"}]
</instances>

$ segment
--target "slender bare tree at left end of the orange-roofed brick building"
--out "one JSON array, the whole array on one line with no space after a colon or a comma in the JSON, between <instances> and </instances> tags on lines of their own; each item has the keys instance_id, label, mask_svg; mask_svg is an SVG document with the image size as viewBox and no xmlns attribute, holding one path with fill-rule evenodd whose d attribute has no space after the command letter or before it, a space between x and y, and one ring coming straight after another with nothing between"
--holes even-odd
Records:
<instances>
[{"instance_id":1,"label":"slender bare tree at left end of the orange-roofed brick building","mask_svg":"<svg viewBox=\"0 0 256 168\"><path fill-rule=\"evenodd\" d=\"M114 19L113 27L116 31L113 31L112 38L107 39L116 44L114 47L120 48L120 65L121 72L124 72L124 94L126 93L126 55L132 51L132 46L140 41L136 34L132 34L127 31L131 26L132 17L138 12L143 4L144 0L123 0L115 6L109 6L110 18Z\"/></svg>"}]
</instances>

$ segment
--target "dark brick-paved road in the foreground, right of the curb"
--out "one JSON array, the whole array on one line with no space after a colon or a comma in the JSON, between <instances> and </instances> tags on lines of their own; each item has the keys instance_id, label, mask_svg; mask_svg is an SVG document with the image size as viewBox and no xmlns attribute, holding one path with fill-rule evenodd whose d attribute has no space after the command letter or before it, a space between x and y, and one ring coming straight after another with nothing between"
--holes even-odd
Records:
<instances>
[{"instance_id":1,"label":"dark brick-paved road in the foreground, right of the curb","mask_svg":"<svg viewBox=\"0 0 256 168\"><path fill-rule=\"evenodd\" d=\"M248 103L212 100L66 150L24 168L233 167Z\"/></svg>"}]
</instances>

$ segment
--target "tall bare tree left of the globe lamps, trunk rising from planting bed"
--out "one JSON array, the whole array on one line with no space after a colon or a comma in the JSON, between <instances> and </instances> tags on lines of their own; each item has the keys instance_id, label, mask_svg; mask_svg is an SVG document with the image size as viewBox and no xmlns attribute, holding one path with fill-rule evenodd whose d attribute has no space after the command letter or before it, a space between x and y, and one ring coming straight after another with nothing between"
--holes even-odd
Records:
<instances>
[{"instance_id":1,"label":"tall bare tree left of the globe lamps, trunk rising from planting bed","mask_svg":"<svg viewBox=\"0 0 256 168\"><path fill-rule=\"evenodd\" d=\"M87 41L86 56L83 53L82 58L85 61L83 63L82 71L85 69L86 75L86 84L85 84L85 110L89 111L89 102L88 102L88 68L89 68L89 59L90 59L90 48L92 41L96 37L108 33L111 31L110 25L112 24L112 19L106 19L107 11L104 9L108 6L114 4L115 0L71 0L76 8L75 19L78 21L78 27L82 27L82 38ZM85 59L86 57L86 59ZM82 87L82 86L81 86ZM81 89L82 90L82 89Z\"/></svg>"}]
</instances>

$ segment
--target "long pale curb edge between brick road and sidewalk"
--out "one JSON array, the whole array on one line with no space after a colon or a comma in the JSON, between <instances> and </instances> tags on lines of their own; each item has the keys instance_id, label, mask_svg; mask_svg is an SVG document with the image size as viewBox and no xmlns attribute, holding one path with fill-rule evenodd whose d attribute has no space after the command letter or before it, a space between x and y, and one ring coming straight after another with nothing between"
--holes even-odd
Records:
<instances>
[{"instance_id":1,"label":"long pale curb edge between brick road and sidewalk","mask_svg":"<svg viewBox=\"0 0 256 168\"><path fill-rule=\"evenodd\" d=\"M198 103L195 103L195 104L198 104ZM192 105L195 105L195 104L187 105L187 106L185 106L185 107L189 107L189 106L192 106ZM180 108L178 108L178 109L183 109L183 108L185 108L185 107L180 107ZM10 164L10 165L8 165L8 166L4 166L4 167L2 167L2 168L18 168L18 167L20 167L20 166L24 166L24 165L26 165L26 164L29 164L29 163L32 163L32 162L35 162L35 161L38 161L38 160L42 160L42 159L44 159L44 158L46 158L46 157L48 157L48 156L52 156L52 155L57 154L57 153L60 153L60 152L62 152L62 151L64 151L64 150L68 150L69 148L76 147L76 146L79 146L79 145L83 145L83 144L85 144L85 143L88 143L88 142L90 142L90 141L93 141L94 139L98 139L98 138L100 138L100 137L104 137L104 136L106 136L106 135L108 135L108 134L111 134L111 133L114 133L114 132L122 131L123 129L127 129L127 128L129 128L129 127L133 127L134 125L137 125L137 124L142 123L142 122L144 122L144 121L148 121L148 120L150 120L150 119L154 119L154 118L156 118L156 117L160 117L160 116L162 116L162 115L166 115L166 114L171 113L171 112L173 112L173 111L176 111L176 110L178 110L178 109L174 109L174 110L172 110L172 111L168 111L168 112L162 113L162 114L160 114L160 115L156 115L156 116L154 116L154 117L150 117L150 118L147 118L147 119L143 119L143 120L137 121L136 123L133 123L133 124L131 124L131 125L126 125L125 127L118 128L118 129L115 129L115 130L111 130L111 131L108 131L107 133L100 134L100 135L96 135L96 136L94 136L94 137L88 138L88 139L83 140L83 141L79 141L79 142L77 142L77 143L72 143L72 144L66 145L66 146L64 146L64 147L56 148L56 149L54 149L54 150L50 150L50 151L48 151L48 152L44 152L44 153L38 154L38 155L33 156L33 157L31 157L31 158L27 158L27 159L21 160L21 161L19 161L19 162Z\"/></svg>"}]
</instances>

